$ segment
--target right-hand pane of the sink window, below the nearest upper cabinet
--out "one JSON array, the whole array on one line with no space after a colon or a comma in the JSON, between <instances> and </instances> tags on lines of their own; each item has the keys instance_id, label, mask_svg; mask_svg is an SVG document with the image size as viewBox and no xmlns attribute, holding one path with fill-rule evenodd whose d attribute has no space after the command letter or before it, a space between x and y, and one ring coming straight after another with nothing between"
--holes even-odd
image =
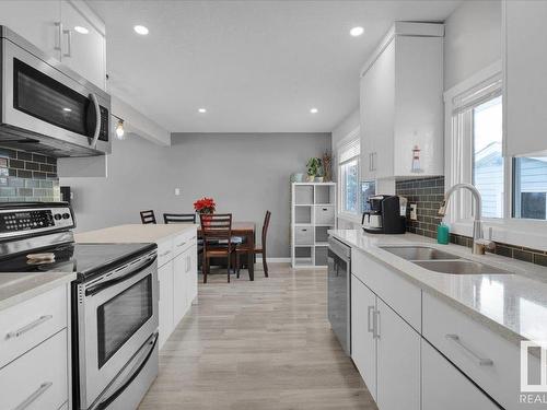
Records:
<instances>
[{"instance_id":1,"label":"right-hand pane of the sink window, below the nearest upper cabinet","mask_svg":"<svg viewBox=\"0 0 547 410\"><path fill-rule=\"evenodd\" d=\"M514 159L513 218L547 220L547 157Z\"/></svg>"}]
</instances>

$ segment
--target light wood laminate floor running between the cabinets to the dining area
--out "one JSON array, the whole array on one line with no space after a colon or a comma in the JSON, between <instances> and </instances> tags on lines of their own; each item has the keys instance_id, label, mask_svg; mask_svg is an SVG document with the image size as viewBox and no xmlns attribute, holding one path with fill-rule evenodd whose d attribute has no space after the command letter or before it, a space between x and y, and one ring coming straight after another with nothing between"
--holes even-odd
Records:
<instances>
[{"instance_id":1,"label":"light wood laminate floor running between the cabinets to the dining area","mask_svg":"<svg viewBox=\"0 0 547 410\"><path fill-rule=\"evenodd\" d=\"M201 279L201 278L200 278ZM326 270L211 274L140 409L376 409L327 320Z\"/></svg>"}]
</instances>

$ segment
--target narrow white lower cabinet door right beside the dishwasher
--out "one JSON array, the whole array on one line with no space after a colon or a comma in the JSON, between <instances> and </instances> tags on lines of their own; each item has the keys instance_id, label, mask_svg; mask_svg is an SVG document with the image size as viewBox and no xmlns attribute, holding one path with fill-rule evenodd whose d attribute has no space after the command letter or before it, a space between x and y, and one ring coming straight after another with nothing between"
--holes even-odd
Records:
<instances>
[{"instance_id":1,"label":"narrow white lower cabinet door right beside the dishwasher","mask_svg":"<svg viewBox=\"0 0 547 410\"><path fill-rule=\"evenodd\" d=\"M351 276L351 358L359 374L376 399L376 340L372 333L372 314L376 296Z\"/></svg>"}]
</instances>

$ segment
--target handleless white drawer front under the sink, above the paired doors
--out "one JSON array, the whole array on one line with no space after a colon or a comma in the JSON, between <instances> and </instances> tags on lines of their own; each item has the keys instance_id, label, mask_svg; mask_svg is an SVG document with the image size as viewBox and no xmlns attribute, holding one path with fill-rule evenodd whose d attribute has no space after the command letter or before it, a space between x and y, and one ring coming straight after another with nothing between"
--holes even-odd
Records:
<instances>
[{"instance_id":1,"label":"handleless white drawer front under the sink, above the paired doors","mask_svg":"<svg viewBox=\"0 0 547 410\"><path fill-rule=\"evenodd\" d=\"M362 251L351 253L351 273L416 330L421 330L421 289Z\"/></svg>"}]
</instances>

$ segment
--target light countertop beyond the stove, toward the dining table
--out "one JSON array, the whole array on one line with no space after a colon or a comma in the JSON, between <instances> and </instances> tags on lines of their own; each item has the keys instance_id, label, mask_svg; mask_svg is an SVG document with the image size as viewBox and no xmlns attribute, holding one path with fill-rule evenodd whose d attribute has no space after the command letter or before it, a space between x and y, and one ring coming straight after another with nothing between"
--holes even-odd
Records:
<instances>
[{"instance_id":1,"label":"light countertop beyond the stove, toward the dining table","mask_svg":"<svg viewBox=\"0 0 547 410\"><path fill-rule=\"evenodd\" d=\"M79 244L159 243L197 227L196 224L183 223L128 224L78 233L74 234L74 239Z\"/></svg>"}]
</instances>

